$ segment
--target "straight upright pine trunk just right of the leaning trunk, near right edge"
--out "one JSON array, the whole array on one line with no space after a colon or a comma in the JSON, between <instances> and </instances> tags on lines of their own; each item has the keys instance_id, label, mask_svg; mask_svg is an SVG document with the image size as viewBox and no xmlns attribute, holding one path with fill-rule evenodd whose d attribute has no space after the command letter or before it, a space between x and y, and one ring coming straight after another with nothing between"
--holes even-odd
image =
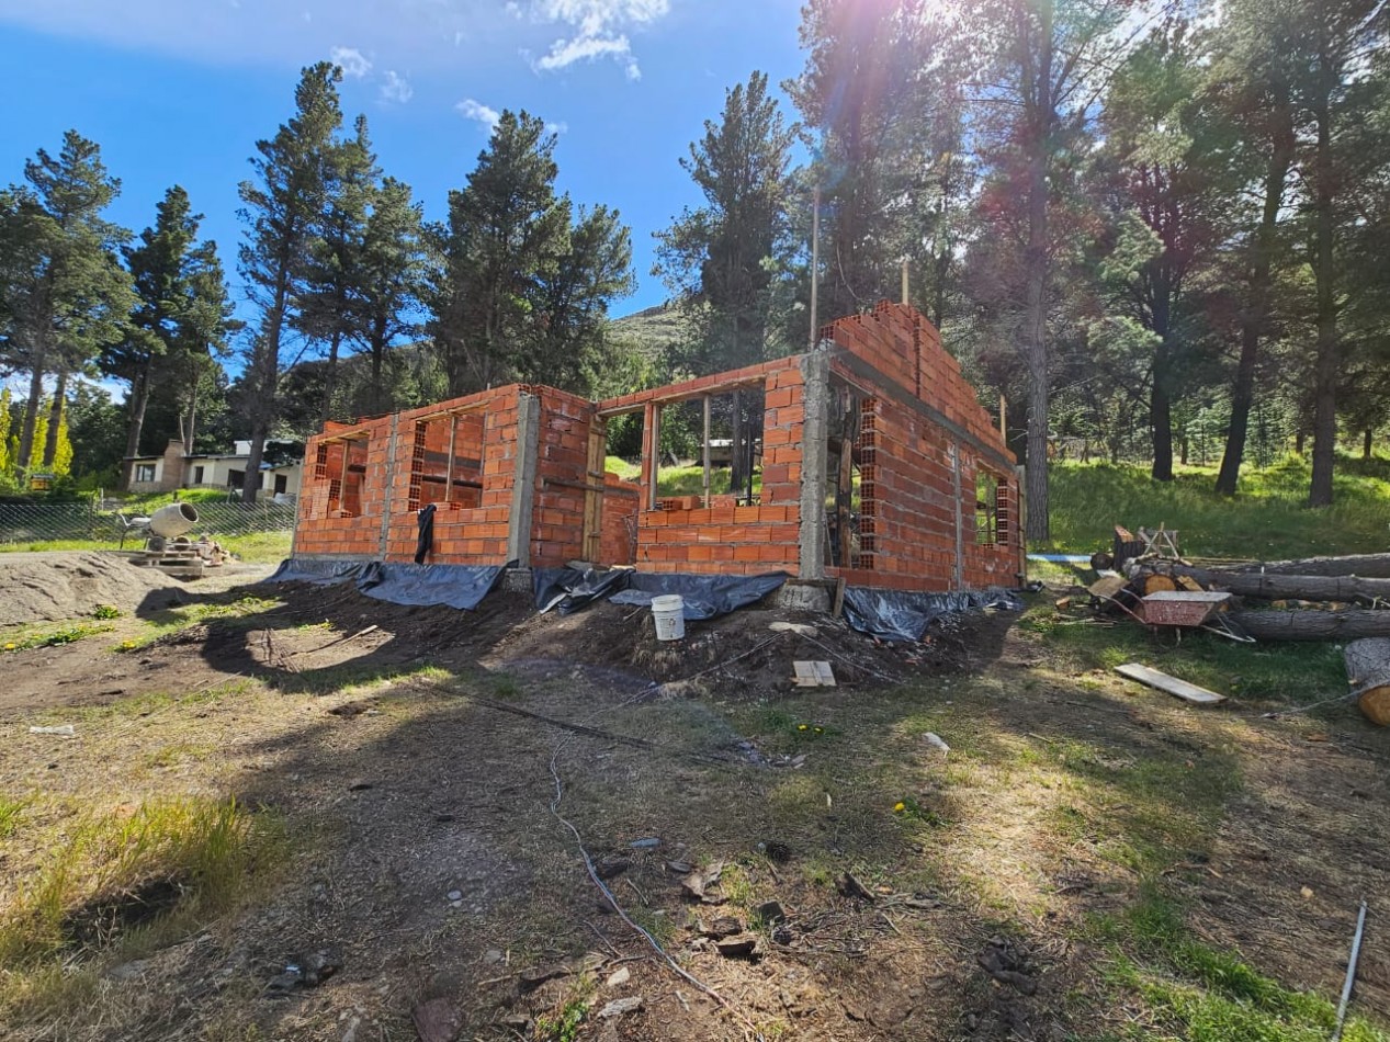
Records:
<instances>
[{"instance_id":1,"label":"straight upright pine trunk just right of the leaning trunk, near right edge","mask_svg":"<svg viewBox=\"0 0 1390 1042\"><path fill-rule=\"evenodd\" d=\"M1326 43L1322 56L1322 97L1316 107L1318 150L1314 192L1315 264L1318 285L1318 364L1314 370L1312 483L1308 506L1332 506L1332 470L1337 450L1337 290L1333 270L1336 233L1332 169L1332 110Z\"/></svg>"}]
</instances>

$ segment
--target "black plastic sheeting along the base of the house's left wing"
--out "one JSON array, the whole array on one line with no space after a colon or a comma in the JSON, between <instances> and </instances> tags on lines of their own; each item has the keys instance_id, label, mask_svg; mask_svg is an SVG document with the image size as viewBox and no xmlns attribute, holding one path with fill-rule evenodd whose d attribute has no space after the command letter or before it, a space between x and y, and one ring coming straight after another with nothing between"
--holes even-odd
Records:
<instances>
[{"instance_id":1,"label":"black plastic sheeting along the base of the house's left wing","mask_svg":"<svg viewBox=\"0 0 1390 1042\"><path fill-rule=\"evenodd\" d=\"M303 559L281 561L265 582L309 582L328 586L352 582L368 597L391 604L435 607L446 604L471 611L492 592L509 565L492 564L386 564L382 561L329 561Z\"/></svg>"}]
</instances>

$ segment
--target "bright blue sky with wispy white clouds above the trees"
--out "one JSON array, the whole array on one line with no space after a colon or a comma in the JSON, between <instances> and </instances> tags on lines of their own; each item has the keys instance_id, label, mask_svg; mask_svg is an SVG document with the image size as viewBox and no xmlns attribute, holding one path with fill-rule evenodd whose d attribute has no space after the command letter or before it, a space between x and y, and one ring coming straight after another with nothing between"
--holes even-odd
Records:
<instances>
[{"instance_id":1,"label":"bright blue sky with wispy white clouds above the trees","mask_svg":"<svg viewBox=\"0 0 1390 1042\"><path fill-rule=\"evenodd\" d=\"M652 232L696 201L680 157L727 88L801 69L798 18L798 0L0 0L0 182L74 128L122 181L113 220L138 232L183 185L235 272L254 142L291 115L300 67L334 58L348 122L367 115L382 168L431 218L489 115L552 122L560 189L632 228L626 314L666 297Z\"/></svg>"}]
</instances>

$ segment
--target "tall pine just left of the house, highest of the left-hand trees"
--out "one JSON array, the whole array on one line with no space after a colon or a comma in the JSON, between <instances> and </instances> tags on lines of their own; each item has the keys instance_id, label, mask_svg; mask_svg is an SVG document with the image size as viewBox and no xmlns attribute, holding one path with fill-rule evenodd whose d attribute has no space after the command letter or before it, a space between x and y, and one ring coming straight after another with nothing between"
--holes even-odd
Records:
<instances>
[{"instance_id":1,"label":"tall pine just left of the house, highest of the left-hand trees","mask_svg":"<svg viewBox=\"0 0 1390 1042\"><path fill-rule=\"evenodd\" d=\"M254 179L243 181L239 189L247 225L239 270L260 311L243 378L252 435L242 489L247 503L254 503L259 492L265 439L279 407L281 350L327 201L335 135L342 128L341 79L342 71L327 61L303 71L295 115L274 138L256 143Z\"/></svg>"}]
</instances>

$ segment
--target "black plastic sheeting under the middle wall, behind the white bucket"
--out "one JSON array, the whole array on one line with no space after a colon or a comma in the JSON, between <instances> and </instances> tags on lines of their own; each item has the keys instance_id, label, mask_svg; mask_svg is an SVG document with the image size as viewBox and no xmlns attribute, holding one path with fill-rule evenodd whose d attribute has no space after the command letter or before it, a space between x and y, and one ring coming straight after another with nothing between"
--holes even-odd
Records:
<instances>
[{"instance_id":1,"label":"black plastic sheeting under the middle wall, behind the white bucket","mask_svg":"<svg viewBox=\"0 0 1390 1042\"><path fill-rule=\"evenodd\" d=\"M767 575L653 575L614 568L613 571L578 571L575 568L537 568L532 574L535 606L541 611L559 610L562 615L607 597L614 604L649 606L652 597L678 593L681 615L687 622L716 618L762 600L787 582L785 572Z\"/></svg>"}]
</instances>

